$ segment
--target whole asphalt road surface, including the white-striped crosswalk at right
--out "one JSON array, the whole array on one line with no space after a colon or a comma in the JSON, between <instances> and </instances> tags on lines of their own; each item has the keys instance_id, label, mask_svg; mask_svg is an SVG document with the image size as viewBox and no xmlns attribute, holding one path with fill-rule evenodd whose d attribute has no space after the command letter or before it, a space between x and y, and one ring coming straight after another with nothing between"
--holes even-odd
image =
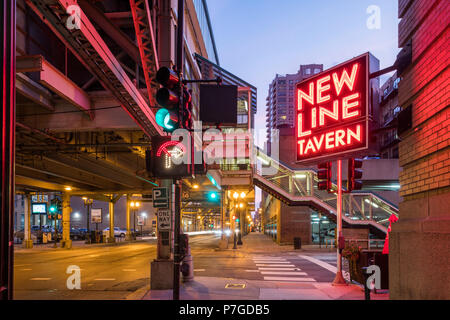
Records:
<instances>
[{"instance_id":1,"label":"whole asphalt road surface, including the white-striped crosswalk at right","mask_svg":"<svg viewBox=\"0 0 450 320\"><path fill-rule=\"evenodd\" d=\"M290 283L331 282L334 273L293 252L218 251L219 238L190 238L194 275ZM334 253L309 253L332 262ZM125 299L149 284L156 240L119 245L80 245L71 250L19 249L15 252L15 299ZM81 289L69 290L69 266L81 269Z\"/></svg>"}]
</instances>

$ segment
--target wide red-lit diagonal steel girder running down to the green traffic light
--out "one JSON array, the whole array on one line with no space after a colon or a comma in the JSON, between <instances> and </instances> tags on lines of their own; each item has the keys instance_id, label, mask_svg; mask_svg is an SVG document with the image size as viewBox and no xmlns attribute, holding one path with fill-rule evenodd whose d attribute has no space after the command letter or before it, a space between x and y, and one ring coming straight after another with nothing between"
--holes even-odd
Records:
<instances>
[{"instance_id":1,"label":"wide red-lit diagonal steel girder running down to the green traffic light","mask_svg":"<svg viewBox=\"0 0 450 320\"><path fill-rule=\"evenodd\" d=\"M26 0L28 5L67 43L97 76L100 83L115 95L123 108L148 136L165 136L156 123L146 100L109 50L102 37L80 9L79 29L68 29L67 8L75 0Z\"/></svg>"}]
</instances>

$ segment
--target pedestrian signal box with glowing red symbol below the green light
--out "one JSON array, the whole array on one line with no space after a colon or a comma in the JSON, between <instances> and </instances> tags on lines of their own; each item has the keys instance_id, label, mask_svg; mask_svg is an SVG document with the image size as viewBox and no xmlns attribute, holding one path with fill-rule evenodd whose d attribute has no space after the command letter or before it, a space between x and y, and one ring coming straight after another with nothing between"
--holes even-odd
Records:
<instances>
[{"instance_id":1,"label":"pedestrian signal box with glowing red symbol below the green light","mask_svg":"<svg viewBox=\"0 0 450 320\"><path fill-rule=\"evenodd\" d=\"M147 170L152 177L160 179L189 177L189 165L179 163L185 153L183 143L171 137L152 137L152 150L145 153Z\"/></svg>"}]
</instances>

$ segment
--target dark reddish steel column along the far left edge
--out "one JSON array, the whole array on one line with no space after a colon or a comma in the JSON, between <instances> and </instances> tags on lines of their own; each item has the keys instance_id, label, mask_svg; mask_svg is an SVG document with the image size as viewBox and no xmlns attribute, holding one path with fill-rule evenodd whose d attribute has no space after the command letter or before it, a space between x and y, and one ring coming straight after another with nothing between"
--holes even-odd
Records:
<instances>
[{"instance_id":1,"label":"dark reddish steel column along the far left edge","mask_svg":"<svg viewBox=\"0 0 450 320\"><path fill-rule=\"evenodd\" d=\"M0 197L0 300L13 298L14 160L16 126L16 1L0 1L2 160Z\"/></svg>"}]
</instances>

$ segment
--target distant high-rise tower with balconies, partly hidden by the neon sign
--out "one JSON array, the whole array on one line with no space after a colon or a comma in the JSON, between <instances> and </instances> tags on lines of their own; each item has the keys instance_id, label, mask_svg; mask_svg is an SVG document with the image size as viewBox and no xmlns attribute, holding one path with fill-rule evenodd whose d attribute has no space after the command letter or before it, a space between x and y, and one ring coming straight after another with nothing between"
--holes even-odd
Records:
<instances>
[{"instance_id":1,"label":"distant high-rise tower with balconies, partly hidden by the neon sign","mask_svg":"<svg viewBox=\"0 0 450 320\"><path fill-rule=\"evenodd\" d=\"M294 96L296 83L323 71L323 64L301 65L295 74L277 74L269 85L266 98L267 144L270 152L271 130L280 127L294 127Z\"/></svg>"}]
</instances>

